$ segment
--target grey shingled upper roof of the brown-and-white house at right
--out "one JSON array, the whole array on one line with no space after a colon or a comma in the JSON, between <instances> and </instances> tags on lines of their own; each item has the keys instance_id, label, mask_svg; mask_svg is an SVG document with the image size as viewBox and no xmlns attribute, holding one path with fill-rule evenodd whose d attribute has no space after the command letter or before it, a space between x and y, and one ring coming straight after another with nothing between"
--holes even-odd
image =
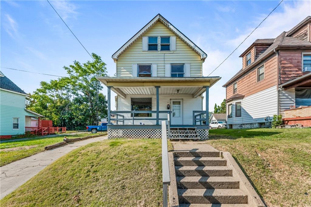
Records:
<instances>
[{"instance_id":1,"label":"grey shingled upper roof of the brown-and-white house at right","mask_svg":"<svg viewBox=\"0 0 311 207\"><path fill-rule=\"evenodd\" d=\"M227 81L223 87L226 87L227 85L231 84L232 82L236 81L239 77L243 76L248 71L252 70L257 64L259 64L261 61L264 60L264 58L269 57L269 55L273 54L274 51L280 49L280 48L311 48L311 43L308 41L300 40L294 37L291 37L289 35L293 34L293 31L297 31L302 26L304 26L306 23L311 20L311 16L308 16L305 18L302 22L300 22L298 25L296 25L293 29L289 32L282 32L279 36L277 36L273 43L270 45L270 47L267 48L265 52L263 52L254 62L252 62L250 65L242 68L239 70L232 78L230 78L229 81ZM269 40L267 40L269 41ZM256 42L256 41L255 41Z\"/></svg>"}]
</instances>

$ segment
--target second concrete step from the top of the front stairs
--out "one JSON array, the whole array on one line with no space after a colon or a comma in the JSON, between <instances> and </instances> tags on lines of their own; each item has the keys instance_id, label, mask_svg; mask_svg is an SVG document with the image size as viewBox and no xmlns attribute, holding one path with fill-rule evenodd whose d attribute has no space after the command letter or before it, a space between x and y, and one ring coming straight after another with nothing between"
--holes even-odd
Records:
<instances>
[{"instance_id":1,"label":"second concrete step from the top of the front stairs","mask_svg":"<svg viewBox=\"0 0 311 207\"><path fill-rule=\"evenodd\" d=\"M175 166L227 166L227 160L221 157L177 157Z\"/></svg>"}]
</instances>

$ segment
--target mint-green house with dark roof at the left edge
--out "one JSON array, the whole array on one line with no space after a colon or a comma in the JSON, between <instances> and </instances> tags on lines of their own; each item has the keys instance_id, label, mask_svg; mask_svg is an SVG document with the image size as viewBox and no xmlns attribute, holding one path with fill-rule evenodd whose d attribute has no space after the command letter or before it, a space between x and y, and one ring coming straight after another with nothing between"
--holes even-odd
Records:
<instances>
[{"instance_id":1,"label":"mint-green house with dark roof at the left edge","mask_svg":"<svg viewBox=\"0 0 311 207\"><path fill-rule=\"evenodd\" d=\"M0 71L0 138L30 131L31 119L42 115L25 108L26 94Z\"/></svg>"}]
</instances>

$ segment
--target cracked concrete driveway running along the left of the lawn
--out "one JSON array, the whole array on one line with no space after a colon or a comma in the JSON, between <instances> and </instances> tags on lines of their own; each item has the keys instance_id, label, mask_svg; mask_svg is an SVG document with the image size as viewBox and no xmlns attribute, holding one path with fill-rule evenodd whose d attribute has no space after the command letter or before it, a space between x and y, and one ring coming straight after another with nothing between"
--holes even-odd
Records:
<instances>
[{"instance_id":1,"label":"cracked concrete driveway running along the left of the lawn","mask_svg":"<svg viewBox=\"0 0 311 207\"><path fill-rule=\"evenodd\" d=\"M56 159L92 142L108 139L100 136L44 151L1 167L1 198L14 191Z\"/></svg>"}]
</instances>

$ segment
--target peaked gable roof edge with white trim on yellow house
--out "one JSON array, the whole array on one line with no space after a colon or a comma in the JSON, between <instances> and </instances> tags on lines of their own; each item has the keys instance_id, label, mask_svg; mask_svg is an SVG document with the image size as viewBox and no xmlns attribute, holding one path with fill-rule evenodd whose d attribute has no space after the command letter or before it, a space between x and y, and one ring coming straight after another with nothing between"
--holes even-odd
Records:
<instances>
[{"instance_id":1,"label":"peaked gable roof edge with white trim on yellow house","mask_svg":"<svg viewBox=\"0 0 311 207\"><path fill-rule=\"evenodd\" d=\"M169 30L171 30L174 34L176 34L180 39L182 39L190 48L192 48L196 53L201 55L201 59L204 61L207 58L207 54L199 48L196 44L194 44L186 35L184 35L181 31L179 31L174 25L172 25L169 21L167 21L162 15L157 14L150 22L148 22L141 30L139 30L131 39L129 39L121 48L115 52L111 58L114 61L118 60L118 57L129 48L137 39L139 39L143 34L145 34L153 25L157 22L161 22L165 25Z\"/></svg>"}]
</instances>

